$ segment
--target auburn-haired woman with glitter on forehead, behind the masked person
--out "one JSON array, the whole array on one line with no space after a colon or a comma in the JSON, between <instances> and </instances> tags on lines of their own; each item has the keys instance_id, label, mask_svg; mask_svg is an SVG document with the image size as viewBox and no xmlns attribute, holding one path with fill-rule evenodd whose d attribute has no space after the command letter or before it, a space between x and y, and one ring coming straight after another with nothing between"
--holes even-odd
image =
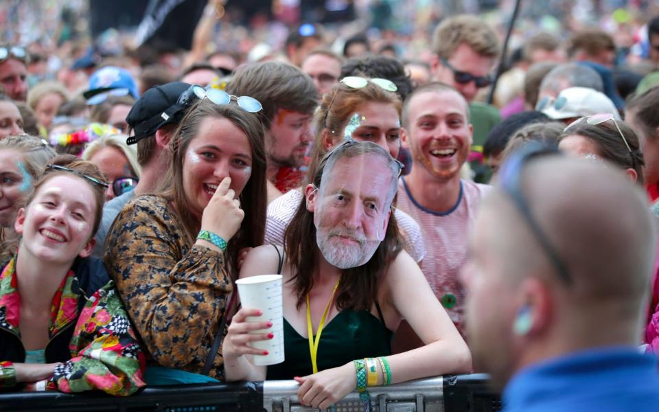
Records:
<instances>
[{"instance_id":1,"label":"auburn-haired woman with glitter on forehead, behind the masked person","mask_svg":"<svg viewBox=\"0 0 659 412\"><path fill-rule=\"evenodd\" d=\"M318 162L327 151L346 137L372 141L396 159L405 144L400 126L402 102L396 90L396 85L386 79L349 76L325 93L314 115L316 138L307 176L314 176ZM284 231L304 197L302 192L302 187L290 190L268 205L266 243L284 243ZM425 252L419 225L404 211L395 209L394 214L405 250L417 263L421 262Z\"/></svg>"}]
</instances>

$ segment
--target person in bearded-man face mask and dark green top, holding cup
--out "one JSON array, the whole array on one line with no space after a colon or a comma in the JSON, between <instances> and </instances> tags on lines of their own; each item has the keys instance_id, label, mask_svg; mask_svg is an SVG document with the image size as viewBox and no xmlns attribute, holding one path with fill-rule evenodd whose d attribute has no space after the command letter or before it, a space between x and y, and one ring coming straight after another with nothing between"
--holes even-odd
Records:
<instances>
[{"instance_id":1,"label":"person in bearded-man face mask and dark green top, holding cup","mask_svg":"<svg viewBox=\"0 0 659 412\"><path fill-rule=\"evenodd\" d=\"M294 378L300 402L325 409L365 389L356 379L364 363L368 385L470 370L464 341L402 250L391 213L399 173L371 141L347 140L323 158L286 231L284 258L273 245L257 247L240 271L281 273L284 329L259 321L257 309L238 311L222 349L227 380ZM425 345L392 355L391 331L403 317ZM267 353L248 343L276 333L284 334L284 363L253 365L245 354Z\"/></svg>"}]
</instances>

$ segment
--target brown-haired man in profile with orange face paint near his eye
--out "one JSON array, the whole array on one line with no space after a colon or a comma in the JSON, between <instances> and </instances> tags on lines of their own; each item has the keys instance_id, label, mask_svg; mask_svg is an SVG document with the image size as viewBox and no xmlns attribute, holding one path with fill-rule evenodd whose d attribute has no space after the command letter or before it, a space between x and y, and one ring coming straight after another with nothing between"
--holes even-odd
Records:
<instances>
[{"instance_id":1,"label":"brown-haired man in profile with orange face paint near his eye","mask_svg":"<svg viewBox=\"0 0 659 412\"><path fill-rule=\"evenodd\" d=\"M251 96L263 105L268 161L268 203L298 187L313 139L311 120L319 94L314 81L299 68L262 62L238 69L227 92Z\"/></svg>"}]
</instances>

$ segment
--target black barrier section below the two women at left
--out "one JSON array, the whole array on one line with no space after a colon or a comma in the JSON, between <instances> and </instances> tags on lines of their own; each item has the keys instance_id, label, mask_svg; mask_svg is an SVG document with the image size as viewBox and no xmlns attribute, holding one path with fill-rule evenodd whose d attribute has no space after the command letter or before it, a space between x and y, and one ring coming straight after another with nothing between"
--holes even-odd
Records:
<instances>
[{"instance_id":1,"label":"black barrier section below the two women at left","mask_svg":"<svg viewBox=\"0 0 659 412\"><path fill-rule=\"evenodd\" d=\"M100 392L0 392L0 411L263 411L263 382L148 387L132 396Z\"/></svg>"}]
</instances>

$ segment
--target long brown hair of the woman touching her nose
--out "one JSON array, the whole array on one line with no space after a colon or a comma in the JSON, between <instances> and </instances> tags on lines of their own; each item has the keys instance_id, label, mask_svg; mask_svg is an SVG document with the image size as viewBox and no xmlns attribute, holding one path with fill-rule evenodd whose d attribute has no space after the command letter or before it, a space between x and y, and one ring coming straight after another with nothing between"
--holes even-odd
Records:
<instances>
[{"instance_id":1,"label":"long brown hair of the woman touching her nose","mask_svg":"<svg viewBox=\"0 0 659 412\"><path fill-rule=\"evenodd\" d=\"M229 273L235 276L235 263L238 260L238 251L244 247L257 247L263 244L266 227L266 157L263 143L263 126L259 117L254 113L244 111L233 102L229 104L215 104L203 99L187 111L183 120L176 128L174 137L170 141L170 168L165 179L156 190L156 194L163 196L174 205L174 209L185 228L189 244L194 243L201 221L191 212L191 207L185 197L183 189L183 159L190 141L197 137L200 124L206 117L223 117L229 119L246 135L251 147L252 174L240 194L240 207L245 212L238 233L231 238L227 247L229 260Z\"/></svg>"}]
</instances>

